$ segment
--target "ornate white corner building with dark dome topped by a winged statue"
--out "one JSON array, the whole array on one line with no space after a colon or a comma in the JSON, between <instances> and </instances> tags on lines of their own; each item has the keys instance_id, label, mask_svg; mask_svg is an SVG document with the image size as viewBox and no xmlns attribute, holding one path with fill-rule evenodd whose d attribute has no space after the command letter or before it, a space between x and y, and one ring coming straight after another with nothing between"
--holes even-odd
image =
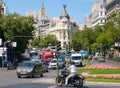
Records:
<instances>
[{"instance_id":1,"label":"ornate white corner building with dark dome topped by a winged statue","mask_svg":"<svg viewBox=\"0 0 120 88\"><path fill-rule=\"evenodd\" d=\"M78 30L78 26L74 19L70 18L64 5L59 18L52 18L50 20L49 34L55 35L61 42L61 47L65 48L70 45L72 35Z\"/></svg>"}]
</instances>

